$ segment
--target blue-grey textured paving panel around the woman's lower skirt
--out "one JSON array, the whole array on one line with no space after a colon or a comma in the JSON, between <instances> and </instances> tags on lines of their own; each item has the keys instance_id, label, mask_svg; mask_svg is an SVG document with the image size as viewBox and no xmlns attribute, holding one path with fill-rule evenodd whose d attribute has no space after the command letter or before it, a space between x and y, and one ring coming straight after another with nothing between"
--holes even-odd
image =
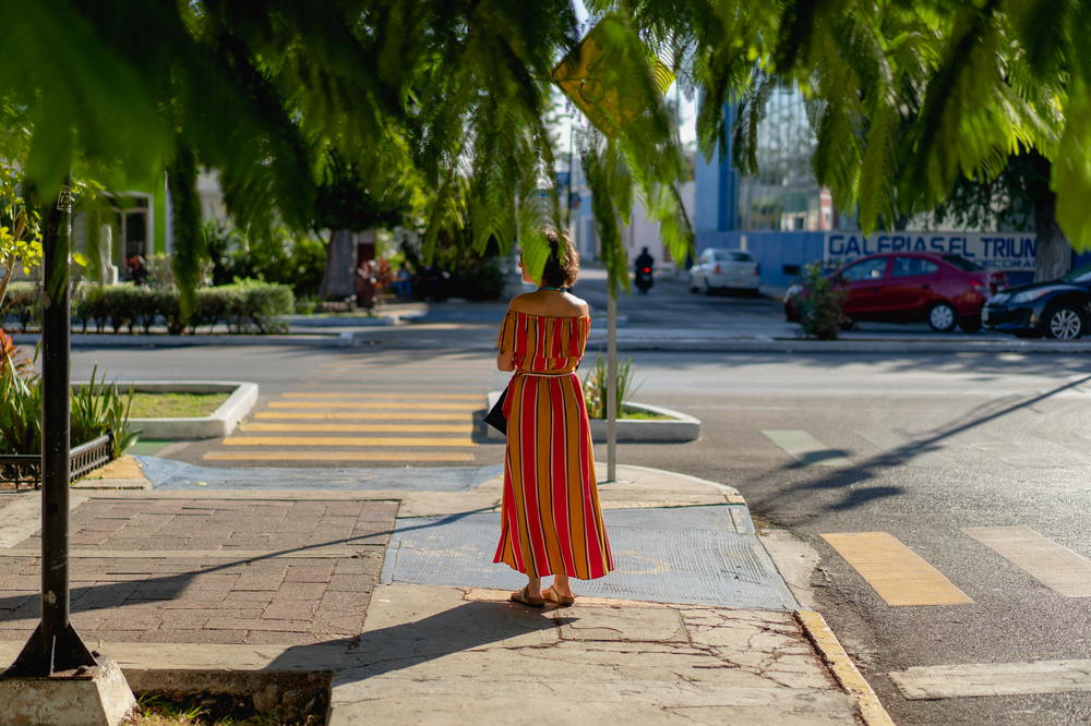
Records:
<instances>
[{"instance_id":1,"label":"blue-grey textured paving panel around the woman's lower skirt","mask_svg":"<svg viewBox=\"0 0 1091 726\"><path fill-rule=\"evenodd\" d=\"M618 569L577 582L584 595L753 609L792 609L795 598L765 547L740 534L730 506L610 509L604 512ZM526 580L494 565L500 516L399 519L383 582L516 590Z\"/></svg>"}]
</instances>

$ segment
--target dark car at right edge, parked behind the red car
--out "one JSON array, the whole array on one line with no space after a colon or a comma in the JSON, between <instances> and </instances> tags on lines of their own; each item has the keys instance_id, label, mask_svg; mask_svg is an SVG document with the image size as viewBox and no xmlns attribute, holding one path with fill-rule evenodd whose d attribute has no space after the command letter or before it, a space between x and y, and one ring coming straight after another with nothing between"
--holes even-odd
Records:
<instances>
[{"instance_id":1,"label":"dark car at right edge, parked behind the red car","mask_svg":"<svg viewBox=\"0 0 1091 726\"><path fill-rule=\"evenodd\" d=\"M1008 288L988 299L981 313L985 327L1022 338L1048 336L1076 340L1091 318L1091 265L1059 280Z\"/></svg>"}]
</instances>

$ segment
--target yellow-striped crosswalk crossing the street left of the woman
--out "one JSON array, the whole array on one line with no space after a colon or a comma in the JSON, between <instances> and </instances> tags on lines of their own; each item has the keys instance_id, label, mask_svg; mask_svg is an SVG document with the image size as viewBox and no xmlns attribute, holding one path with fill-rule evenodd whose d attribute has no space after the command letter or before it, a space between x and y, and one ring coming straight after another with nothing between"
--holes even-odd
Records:
<instances>
[{"instance_id":1,"label":"yellow-striped crosswalk crossing the street left of the woman","mask_svg":"<svg viewBox=\"0 0 1091 726\"><path fill-rule=\"evenodd\" d=\"M484 404L479 361L344 356L265 402L208 461L469 463ZM394 372L397 375L392 375Z\"/></svg>"}]
</instances>

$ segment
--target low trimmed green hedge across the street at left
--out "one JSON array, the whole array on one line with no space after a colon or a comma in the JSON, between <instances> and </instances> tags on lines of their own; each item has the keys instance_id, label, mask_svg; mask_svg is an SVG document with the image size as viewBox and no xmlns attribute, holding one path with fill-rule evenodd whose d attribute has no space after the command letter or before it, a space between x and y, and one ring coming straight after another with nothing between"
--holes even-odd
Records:
<instances>
[{"instance_id":1,"label":"low trimmed green hedge across the street at left","mask_svg":"<svg viewBox=\"0 0 1091 726\"><path fill-rule=\"evenodd\" d=\"M41 303L34 283L12 283L8 302L9 317L23 332L40 327ZM284 332L288 326L280 316L292 314L295 306L296 298L286 285L242 280L197 290L193 313L184 320L177 290L80 282L72 292L72 323L84 332L88 327L105 332L107 326L113 332L151 332L159 324L170 335L195 334L205 326L212 331L219 323L233 334Z\"/></svg>"}]
</instances>

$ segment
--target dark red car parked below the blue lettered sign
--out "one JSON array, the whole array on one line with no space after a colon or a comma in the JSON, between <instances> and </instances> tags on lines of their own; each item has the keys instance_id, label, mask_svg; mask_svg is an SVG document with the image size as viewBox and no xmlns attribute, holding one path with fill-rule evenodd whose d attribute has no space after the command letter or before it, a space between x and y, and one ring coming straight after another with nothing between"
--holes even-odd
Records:
<instances>
[{"instance_id":1,"label":"dark red car parked below the blue lettered sign","mask_svg":"<svg viewBox=\"0 0 1091 726\"><path fill-rule=\"evenodd\" d=\"M849 297L843 311L853 320L927 320L933 330L967 332L981 328L981 308L1004 287L1004 273L991 273L959 255L886 252L854 259L835 278ZM793 285L784 295L784 315L799 320Z\"/></svg>"}]
</instances>

